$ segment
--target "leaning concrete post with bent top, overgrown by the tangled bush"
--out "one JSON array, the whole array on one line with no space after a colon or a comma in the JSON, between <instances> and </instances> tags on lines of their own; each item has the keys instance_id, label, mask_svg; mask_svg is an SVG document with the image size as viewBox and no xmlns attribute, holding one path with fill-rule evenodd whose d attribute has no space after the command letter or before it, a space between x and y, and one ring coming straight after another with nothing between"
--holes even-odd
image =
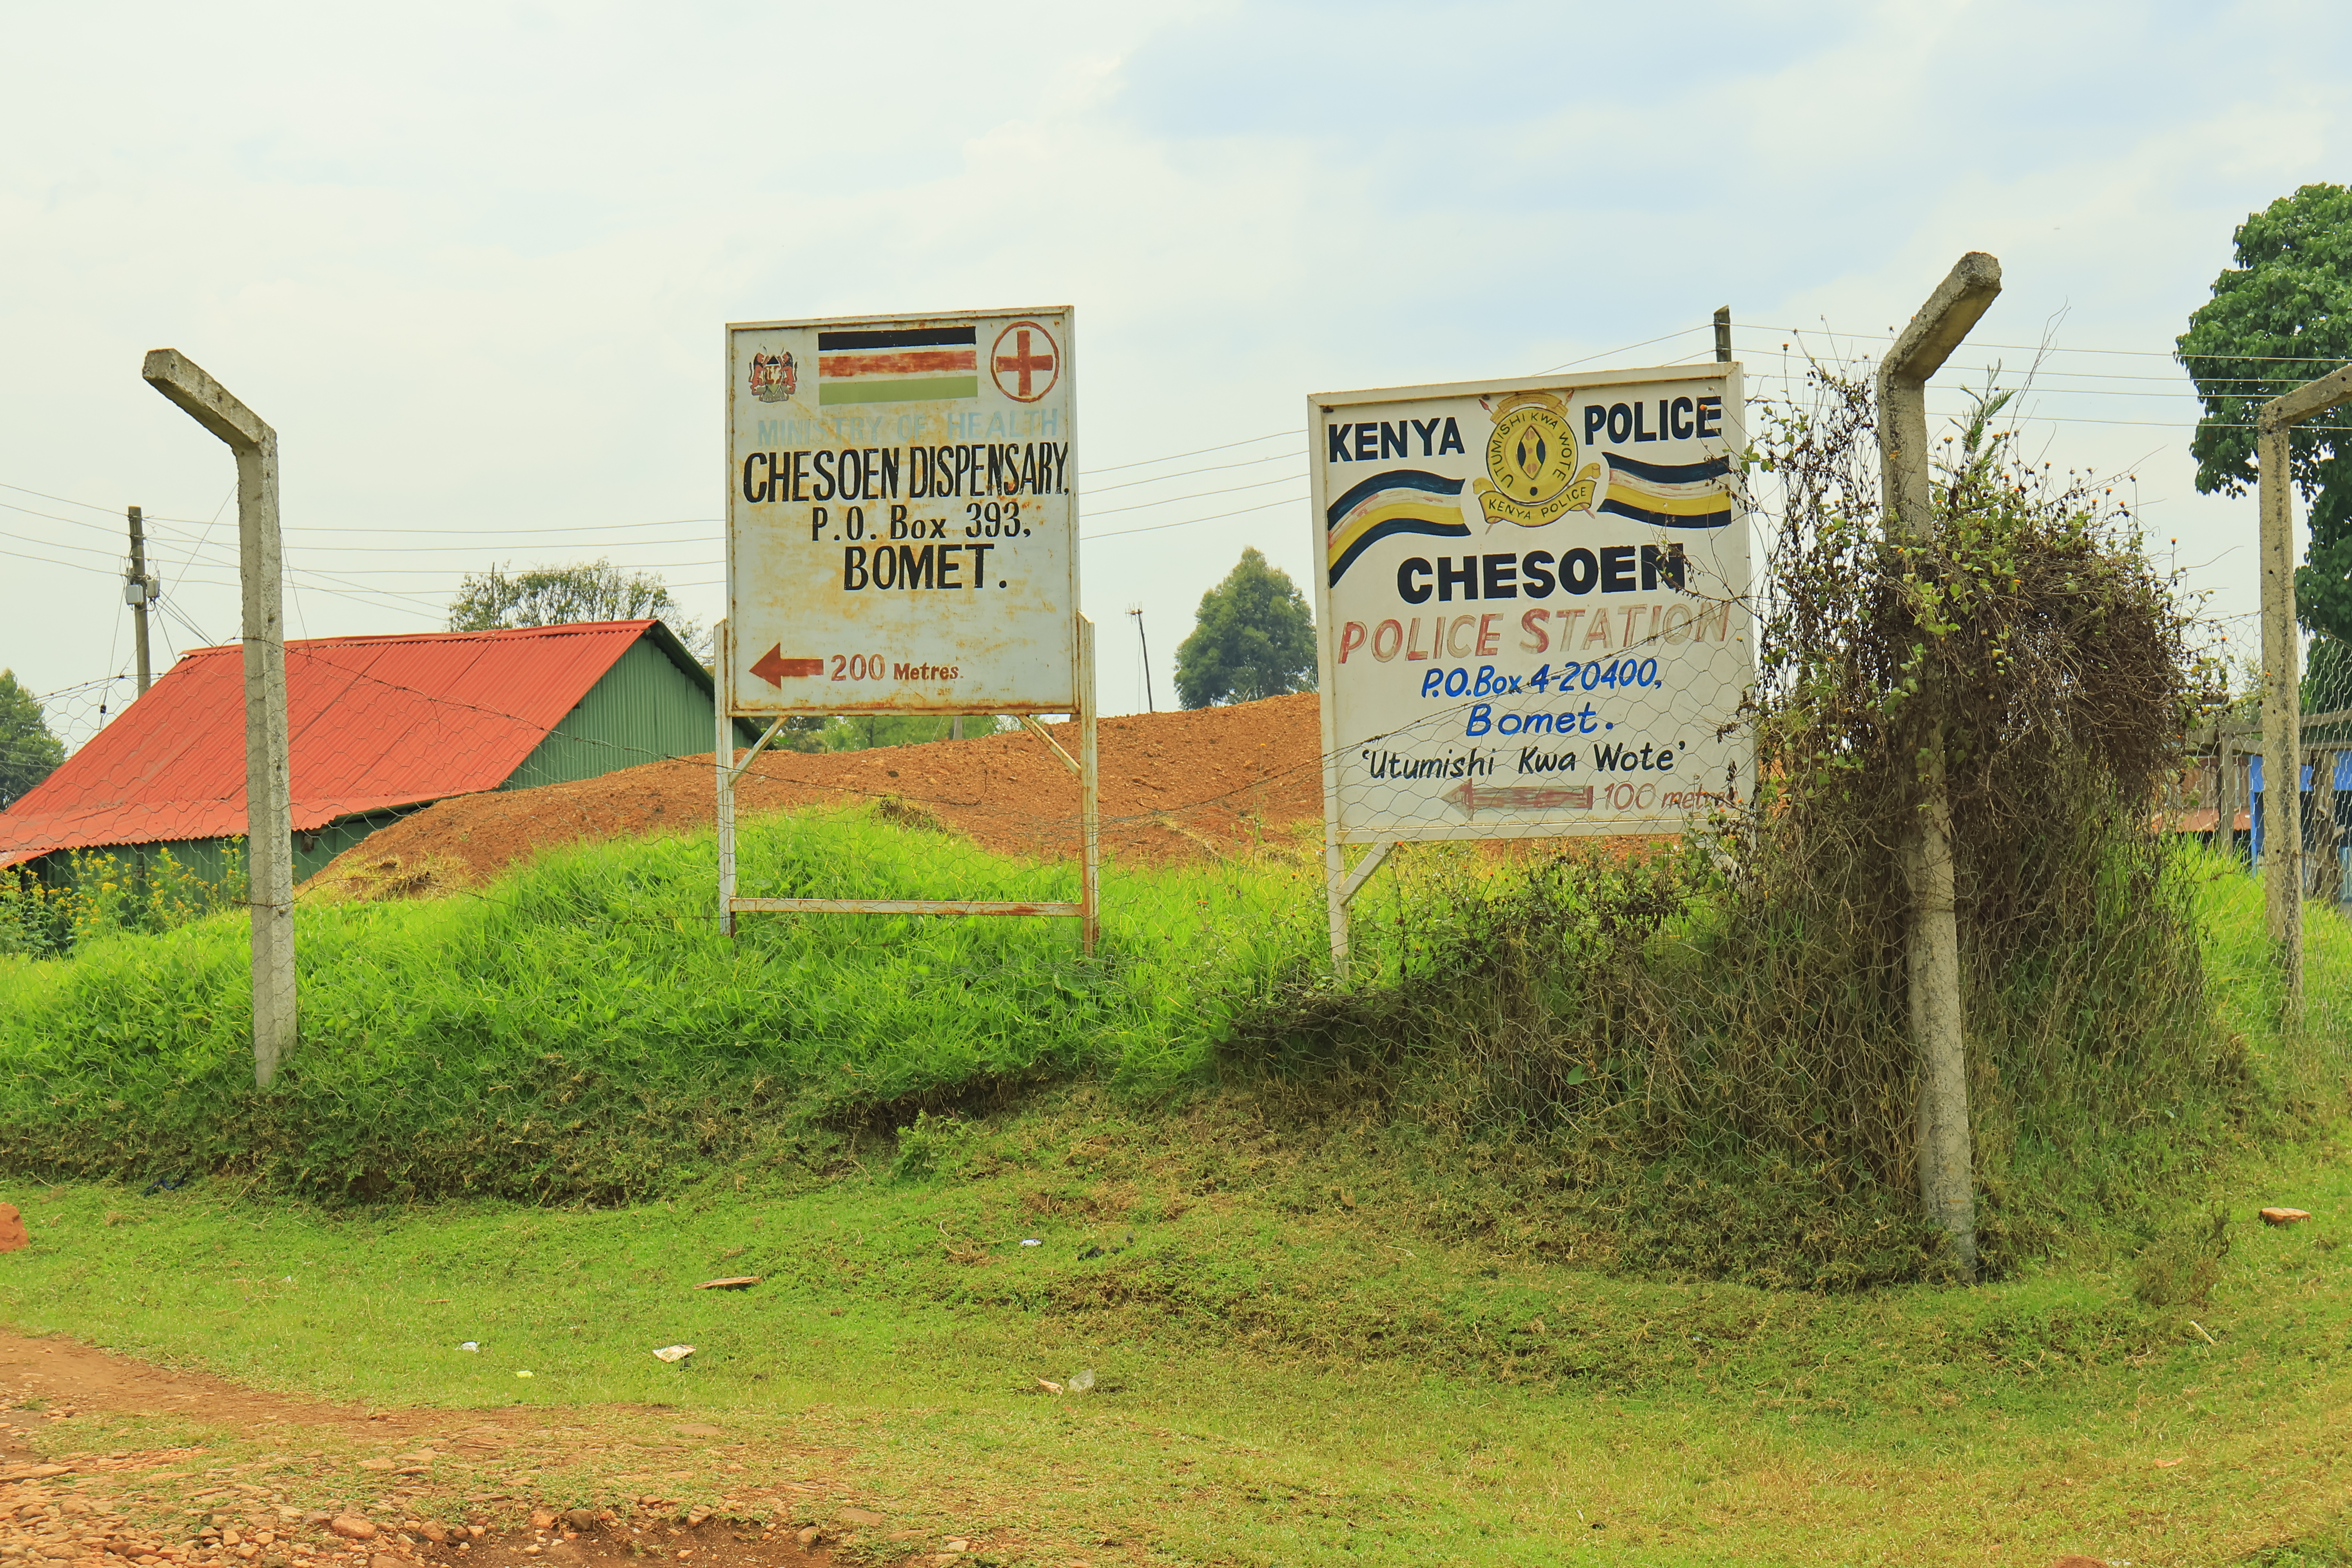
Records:
<instances>
[{"instance_id":1,"label":"leaning concrete post with bent top, overgrown by the tangled bush","mask_svg":"<svg viewBox=\"0 0 2352 1568\"><path fill-rule=\"evenodd\" d=\"M1926 381L1959 348L2002 292L2002 263L1969 252L1903 327L1879 362L1879 484L1886 534L1926 541L1936 534L1929 477ZM1919 1048L1919 1199L1952 1244L1962 1279L1976 1279L1976 1150L1969 1133L1969 1051L1959 997L1959 912L1952 875L1952 797L1945 788L1945 733L1936 682L1919 748L1919 820L1905 844L1910 877L1910 1013Z\"/></svg>"}]
</instances>

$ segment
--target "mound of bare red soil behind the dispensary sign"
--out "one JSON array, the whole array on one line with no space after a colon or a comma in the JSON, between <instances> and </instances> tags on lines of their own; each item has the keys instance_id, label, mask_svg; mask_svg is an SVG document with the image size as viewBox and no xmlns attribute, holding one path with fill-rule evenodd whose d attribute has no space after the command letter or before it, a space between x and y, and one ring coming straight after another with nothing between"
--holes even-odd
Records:
<instances>
[{"instance_id":1,"label":"mound of bare red soil behind the dispensary sign","mask_svg":"<svg viewBox=\"0 0 2352 1568\"><path fill-rule=\"evenodd\" d=\"M1075 755L1077 724L1049 731ZM1105 856L1221 853L1322 820L1312 691L1103 719L1096 743ZM1002 853L1077 853L1077 776L1025 731L866 752L762 752L736 785L739 816L844 802L891 802L891 811L920 811ZM440 882L485 882L550 844L701 827L715 809L708 752L539 790L459 795L350 846L310 886L423 893Z\"/></svg>"}]
</instances>

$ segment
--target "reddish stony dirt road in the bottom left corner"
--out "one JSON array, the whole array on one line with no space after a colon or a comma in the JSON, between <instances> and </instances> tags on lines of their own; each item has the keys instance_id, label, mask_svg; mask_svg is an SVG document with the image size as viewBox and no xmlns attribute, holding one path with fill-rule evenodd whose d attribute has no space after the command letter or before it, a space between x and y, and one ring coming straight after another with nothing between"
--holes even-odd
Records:
<instances>
[{"instance_id":1,"label":"reddish stony dirt road in the bottom left corner","mask_svg":"<svg viewBox=\"0 0 2352 1568\"><path fill-rule=\"evenodd\" d=\"M0 1559L26 1568L800 1568L988 1563L894 1528L840 1455L652 1408L358 1410L0 1335ZM626 1486L656 1479L661 1490ZM616 1488L623 1488L616 1495ZM600 1505L579 1502L602 1500Z\"/></svg>"}]
</instances>

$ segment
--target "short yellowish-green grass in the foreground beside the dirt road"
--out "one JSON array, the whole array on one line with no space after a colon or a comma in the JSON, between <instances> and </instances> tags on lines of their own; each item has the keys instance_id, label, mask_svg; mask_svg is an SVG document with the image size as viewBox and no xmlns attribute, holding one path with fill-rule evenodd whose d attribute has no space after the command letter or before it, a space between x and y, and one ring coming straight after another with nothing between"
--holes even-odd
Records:
<instances>
[{"instance_id":1,"label":"short yellowish-green grass in the foreground beside the dirt road","mask_svg":"<svg viewBox=\"0 0 2352 1568\"><path fill-rule=\"evenodd\" d=\"M894 1519L1148 1561L2343 1561L2331 1145L2239 1173L2211 1298L2152 1309L2129 1258L1860 1295L1597 1276L1350 1192L1345 1150L1230 1105L1077 1091L929 1140L924 1175L873 1140L821 1187L619 1211L56 1187L0 1314L372 1406L668 1406L844 1448ZM736 1272L764 1284L691 1288ZM1084 1399L1035 1389L1080 1368Z\"/></svg>"}]
</instances>

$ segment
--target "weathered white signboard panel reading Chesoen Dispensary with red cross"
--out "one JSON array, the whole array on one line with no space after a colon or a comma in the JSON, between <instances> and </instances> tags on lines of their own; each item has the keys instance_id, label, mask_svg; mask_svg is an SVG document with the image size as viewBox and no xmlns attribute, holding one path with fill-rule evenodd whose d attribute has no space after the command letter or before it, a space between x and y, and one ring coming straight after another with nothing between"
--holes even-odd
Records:
<instances>
[{"instance_id":1,"label":"weathered white signboard panel reading Chesoen Dispensary with red cross","mask_svg":"<svg viewBox=\"0 0 2352 1568\"><path fill-rule=\"evenodd\" d=\"M734 712L1077 708L1073 315L727 327Z\"/></svg>"}]
</instances>

